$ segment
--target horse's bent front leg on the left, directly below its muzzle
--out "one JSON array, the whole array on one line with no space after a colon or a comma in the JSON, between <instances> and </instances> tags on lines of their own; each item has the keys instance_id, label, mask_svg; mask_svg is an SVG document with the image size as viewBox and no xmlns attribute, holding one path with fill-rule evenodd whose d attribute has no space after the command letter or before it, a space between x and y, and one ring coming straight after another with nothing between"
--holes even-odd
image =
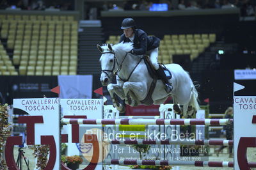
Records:
<instances>
[{"instance_id":1,"label":"horse's bent front leg on the left, directly below its muzzle","mask_svg":"<svg viewBox=\"0 0 256 170\"><path fill-rule=\"evenodd\" d=\"M124 98L125 98L124 89L122 87L120 87L118 84L109 84L108 91L111 96L113 106L116 107L116 109L119 112L125 112L124 105L120 104L118 102L118 98L116 97L116 95L118 95L118 97L120 97L122 100L124 100Z\"/></svg>"}]
</instances>

